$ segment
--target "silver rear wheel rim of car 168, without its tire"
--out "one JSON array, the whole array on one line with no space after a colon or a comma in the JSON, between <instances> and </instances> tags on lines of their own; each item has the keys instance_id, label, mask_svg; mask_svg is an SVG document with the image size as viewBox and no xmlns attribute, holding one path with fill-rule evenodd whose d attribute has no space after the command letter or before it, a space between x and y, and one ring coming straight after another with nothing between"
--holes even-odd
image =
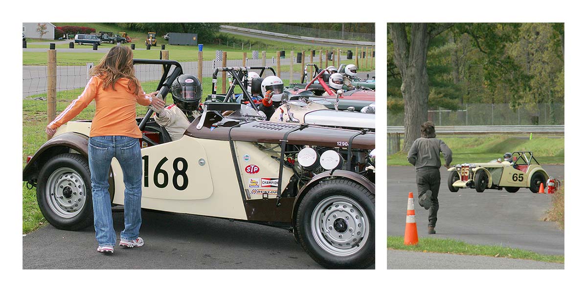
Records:
<instances>
[{"instance_id":1,"label":"silver rear wheel rim of car 168, without its tire","mask_svg":"<svg viewBox=\"0 0 587 292\"><path fill-rule=\"evenodd\" d=\"M47 179L46 200L49 208L61 218L72 218L79 214L87 195L82 177L69 167L56 169Z\"/></svg>"}]
</instances>

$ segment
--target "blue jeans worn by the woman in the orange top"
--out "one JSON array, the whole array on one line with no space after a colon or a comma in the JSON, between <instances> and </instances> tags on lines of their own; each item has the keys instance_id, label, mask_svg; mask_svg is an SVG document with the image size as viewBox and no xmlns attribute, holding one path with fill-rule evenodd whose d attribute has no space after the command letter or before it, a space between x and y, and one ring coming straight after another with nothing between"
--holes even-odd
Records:
<instances>
[{"instance_id":1,"label":"blue jeans worn by the woman in the orange top","mask_svg":"<svg viewBox=\"0 0 587 292\"><path fill-rule=\"evenodd\" d=\"M112 205L108 192L110 162L116 157L124 181L124 230L120 239L134 240L141 228L141 179L143 161L139 139L126 136L90 137L88 143L94 228L98 246L114 246L116 233L112 223Z\"/></svg>"}]
</instances>

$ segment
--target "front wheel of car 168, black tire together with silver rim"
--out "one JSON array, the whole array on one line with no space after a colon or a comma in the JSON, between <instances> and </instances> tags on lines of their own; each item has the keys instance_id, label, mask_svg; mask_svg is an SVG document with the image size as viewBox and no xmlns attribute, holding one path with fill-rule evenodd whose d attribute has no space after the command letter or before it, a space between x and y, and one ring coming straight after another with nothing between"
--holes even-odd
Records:
<instances>
[{"instance_id":1,"label":"front wheel of car 168, black tire together with silver rim","mask_svg":"<svg viewBox=\"0 0 587 292\"><path fill-rule=\"evenodd\" d=\"M348 204L345 205L345 203ZM327 213L332 208L338 209ZM329 233L326 230L328 228L314 224L318 220L323 222L323 219L336 218L337 214L339 216L335 221L341 220L341 222L333 223L334 228L333 226L329 228L333 230L333 235L343 238L338 244L341 247L329 241L333 238L326 235ZM348 220L350 214L355 215L355 217L351 216L352 221ZM326 223L317 224L326 225ZM355 228L354 232L352 228ZM315 230L316 235L312 230ZM363 231L362 237L359 234L360 230ZM329 269L368 267L375 263L375 194L369 192L365 186L348 179L336 178L323 181L313 186L302 199L296 214L295 231L302 248L323 267ZM350 242L353 244L350 245ZM333 252L340 252L340 254L333 254Z\"/></svg>"}]
</instances>

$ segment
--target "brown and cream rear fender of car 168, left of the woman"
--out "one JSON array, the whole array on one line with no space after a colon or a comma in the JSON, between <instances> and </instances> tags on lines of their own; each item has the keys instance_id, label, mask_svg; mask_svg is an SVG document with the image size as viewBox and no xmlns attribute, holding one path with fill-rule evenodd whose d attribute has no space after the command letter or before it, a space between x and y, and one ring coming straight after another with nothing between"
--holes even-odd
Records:
<instances>
[{"instance_id":1,"label":"brown and cream rear fender of car 168, left of the woman","mask_svg":"<svg viewBox=\"0 0 587 292\"><path fill-rule=\"evenodd\" d=\"M22 181L35 180L39 174L39 170L49 158L55 155L68 153L70 150L74 150L85 157L87 157L87 142L89 137L83 134L68 132L45 142L41 145L41 148L36 151L35 155L31 158L31 161L25 165L22 170Z\"/></svg>"}]
</instances>

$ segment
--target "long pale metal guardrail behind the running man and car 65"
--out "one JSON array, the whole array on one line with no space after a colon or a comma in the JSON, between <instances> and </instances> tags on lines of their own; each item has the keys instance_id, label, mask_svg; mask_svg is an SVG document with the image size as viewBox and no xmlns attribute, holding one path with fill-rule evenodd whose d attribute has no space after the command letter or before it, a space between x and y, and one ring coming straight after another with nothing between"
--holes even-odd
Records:
<instances>
[{"instance_id":1,"label":"long pale metal guardrail behind the running man and car 65","mask_svg":"<svg viewBox=\"0 0 587 292\"><path fill-rule=\"evenodd\" d=\"M440 134L565 133L565 125L438 125L434 130ZM404 126L390 125L387 133L404 133Z\"/></svg>"}]
</instances>

